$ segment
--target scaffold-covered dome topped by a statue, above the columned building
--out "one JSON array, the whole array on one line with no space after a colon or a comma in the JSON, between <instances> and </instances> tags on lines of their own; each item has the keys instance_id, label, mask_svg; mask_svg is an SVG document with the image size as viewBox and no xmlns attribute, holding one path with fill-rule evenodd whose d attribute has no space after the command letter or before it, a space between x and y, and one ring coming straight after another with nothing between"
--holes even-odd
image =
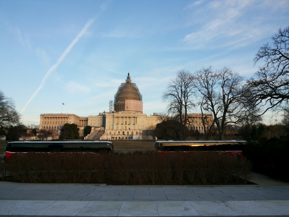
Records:
<instances>
[{"instance_id":1,"label":"scaffold-covered dome topped by a statue, above the columned building","mask_svg":"<svg viewBox=\"0 0 289 217\"><path fill-rule=\"evenodd\" d=\"M142 112L142 95L135 83L131 83L129 73L125 83L122 83L114 94L114 111Z\"/></svg>"}]
</instances>

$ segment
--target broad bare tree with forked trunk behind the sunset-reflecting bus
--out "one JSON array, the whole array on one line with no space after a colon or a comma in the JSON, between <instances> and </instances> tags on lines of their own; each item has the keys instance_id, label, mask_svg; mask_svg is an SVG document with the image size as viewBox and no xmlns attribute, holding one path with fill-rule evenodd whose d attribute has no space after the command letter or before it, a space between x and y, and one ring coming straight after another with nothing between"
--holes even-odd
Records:
<instances>
[{"instance_id":1,"label":"broad bare tree with forked trunk behind the sunset-reflecting bus","mask_svg":"<svg viewBox=\"0 0 289 217\"><path fill-rule=\"evenodd\" d=\"M251 114L244 105L243 77L227 67L216 71L212 67L203 68L193 77L200 99L203 126L205 128L204 113L211 113L214 119L209 131L212 132L215 124L219 139L223 140L225 128L229 124L238 124L248 119ZM208 136L207 131L206 134Z\"/></svg>"}]
</instances>

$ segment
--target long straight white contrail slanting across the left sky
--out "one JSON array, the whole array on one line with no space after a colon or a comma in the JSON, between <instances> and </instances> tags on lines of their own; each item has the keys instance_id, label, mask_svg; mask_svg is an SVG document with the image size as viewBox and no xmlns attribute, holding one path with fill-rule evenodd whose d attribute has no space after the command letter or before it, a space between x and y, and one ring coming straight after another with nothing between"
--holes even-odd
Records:
<instances>
[{"instance_id":1,"label":"long straight white contrail slanting across the left sky","mask_svg":"<svg viewBox=\"0 0 289 217\"><path fill-rule=\"evenodd\" d=\"M26 107L29 105L29 103L34 99L34 97L37 96L37 94L39 93L39 91L42 89L42 87L44 87L46 80L48 78L48 76L51 74L51 72L53 70L55 70L59 64L62 62L62 60L64 60L65 56L70 52L71 48L75 45L75 43L79 40L79 38L81 38L81 36L83 36L83 34L86 32L86 30L88 29L88 27L91 26L91 24L95 21L95 19L89 19L88 22L85 24L85 26L83 27L83 29L81 30L81 32L79 32L79 34L76 36L76 38L70 43L70 45L68 45L68 47L64 50L63 54L61 54L61 56L58 58L58 60L55 62L55 64L46 72L45 76L43 77L42 81L40 82L39 87L37 88L37 90L32 94L32 96L30 97L30 99L26 102L25 106L22 108L21 113L23 113L26 109Z\"/></svg>"}]
</instances>

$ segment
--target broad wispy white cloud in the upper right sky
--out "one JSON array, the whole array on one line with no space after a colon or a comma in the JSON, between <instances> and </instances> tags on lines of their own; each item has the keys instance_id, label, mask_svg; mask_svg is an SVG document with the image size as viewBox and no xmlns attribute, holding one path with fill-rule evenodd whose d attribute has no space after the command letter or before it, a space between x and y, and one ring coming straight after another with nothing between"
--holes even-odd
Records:
<instances>
[{"instance_id":1,"label":"broad wispy white cloud in the upper right sky","mask_svg":"<svg viewBox=\"0 0 289 217\"><path fill-rule=\"evenodd\" d=\"M264 15L258 17L252 12L252 8L260 10L258 7L262 4L259 3L249 0L209 1L203 7L206 8L203 13L207 13L210 19L196 31L187 34L182 41L190 49L236 48L271 35L276 32L275 25L267 22L271 18ZM268 3L263 6L266 7L266 4L269 7Z\"/></svg>"}]
</instances>

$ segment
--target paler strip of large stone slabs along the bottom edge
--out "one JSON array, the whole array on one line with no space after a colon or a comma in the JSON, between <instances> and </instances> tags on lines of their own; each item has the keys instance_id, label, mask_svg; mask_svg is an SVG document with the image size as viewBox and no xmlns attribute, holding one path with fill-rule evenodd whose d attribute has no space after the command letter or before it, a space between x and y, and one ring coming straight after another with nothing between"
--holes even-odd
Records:
<instances>
[{"instance_id":1,"label":"paler strip of large stone slabs along the bottom edge","mask_svg":"<svg viewBox=\"0 0 289 217\"><path fill-rule=\"evenodd\" d=\"M0 201L2 215L277 216L289 201Z\"/></svg>"}]
</instances>

